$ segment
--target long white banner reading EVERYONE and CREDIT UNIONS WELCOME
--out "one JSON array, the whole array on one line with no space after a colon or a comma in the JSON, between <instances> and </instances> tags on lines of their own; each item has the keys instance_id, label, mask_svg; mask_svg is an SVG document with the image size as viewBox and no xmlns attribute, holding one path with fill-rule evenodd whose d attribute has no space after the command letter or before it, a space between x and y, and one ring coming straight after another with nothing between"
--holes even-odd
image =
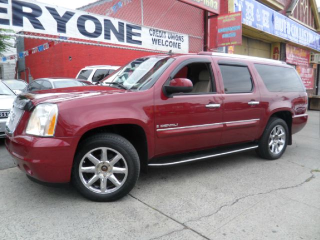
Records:
<instances>
[{"instance_id":1,"label":"long white banner reading EVERYONE and CREDIT UNIONS WELCOME","mask_svg":"<svg viewBox=\"0 0 320 240\"><path fill-rule=\"evenodd\" d=\"M188 35L32 0L0 0L0 28L186 53Z\"/></svg>"}]
</instances>

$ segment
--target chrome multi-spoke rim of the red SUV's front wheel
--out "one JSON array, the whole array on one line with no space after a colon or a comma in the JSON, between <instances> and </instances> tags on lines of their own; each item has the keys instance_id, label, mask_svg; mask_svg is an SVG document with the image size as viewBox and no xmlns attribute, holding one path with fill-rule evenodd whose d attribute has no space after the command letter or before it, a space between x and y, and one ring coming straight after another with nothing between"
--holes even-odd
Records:
<instances>
[{"instance_id":1,"label":"chrome multi-spoke rim of the red SUV's front wheel","mask_svg":"<svg viewBox=\"0 0 320 240\"><path fill-rule=\"evenodd\" d=\"M128 167L118 151L110 147L98 147L82 157L78 171L86 188L95 193L107 194L124 184Z\"/></svg>"}]
</instances>

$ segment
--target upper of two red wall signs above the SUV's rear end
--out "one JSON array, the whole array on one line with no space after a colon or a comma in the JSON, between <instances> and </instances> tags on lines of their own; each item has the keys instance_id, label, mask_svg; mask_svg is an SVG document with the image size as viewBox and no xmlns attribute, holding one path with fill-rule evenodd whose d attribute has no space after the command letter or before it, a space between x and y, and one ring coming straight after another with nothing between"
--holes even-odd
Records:
<instances>
[{"instance_id":1,"label":"upper of two red wall signs above the SUV's rear end","mask_svg":"<svg viewBox=\"0 0 320 240\"><path fill-rule=\"evenodd\" d=\"M293 65L309 65L310 51L285 44L285 61Z\"/></svg>"}]
</instances>

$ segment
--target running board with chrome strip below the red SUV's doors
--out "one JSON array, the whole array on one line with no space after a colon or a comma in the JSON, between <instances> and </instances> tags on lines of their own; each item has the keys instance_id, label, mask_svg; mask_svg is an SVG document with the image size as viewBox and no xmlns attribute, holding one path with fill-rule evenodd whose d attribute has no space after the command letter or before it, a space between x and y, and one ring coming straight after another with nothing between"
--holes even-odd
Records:
<instances>
[{"instance_id":1,"label":"running board with chrome strip below the red SUV's doors","mask_svg":"<svg viewBox=\"0 0 320 240\"><path fill-rule=\"evenodd\" d=\"M184 164L192 161L205 160L208 158L233 154L241 151L247 151L257 147L258 145L256 143L250 143L250 144L237 145L235 147L233 146L232 148L230 147L214 148L214 149L209 149L204 151L189 152L189 153L166 156L166 157L158 157L158 158L151 159L148 163L148 166L160 167L160 166Z\"/></svg>"}]
</instances>

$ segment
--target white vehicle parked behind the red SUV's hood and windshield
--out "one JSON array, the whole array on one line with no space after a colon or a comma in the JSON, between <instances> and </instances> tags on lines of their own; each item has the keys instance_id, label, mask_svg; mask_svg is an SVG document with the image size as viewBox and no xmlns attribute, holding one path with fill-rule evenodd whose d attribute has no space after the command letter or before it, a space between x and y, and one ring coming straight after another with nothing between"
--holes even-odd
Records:
<instances>
[{"instance_id":1,"label":"white vehicle parked behind the red SUV's hood and windshield","mask_svg":"<svg viewBox=\"0 0 320 240\"><path fill-rule=\"evenodd\" d=\"M102 80L104 77L111 74L113 71L115 71L119 67L120 66L111 66L111 65L86 66L78 72L78 74L76 75L76 78L84 79L95 84L100 80Z\"/></svg>"}]
</instances>

